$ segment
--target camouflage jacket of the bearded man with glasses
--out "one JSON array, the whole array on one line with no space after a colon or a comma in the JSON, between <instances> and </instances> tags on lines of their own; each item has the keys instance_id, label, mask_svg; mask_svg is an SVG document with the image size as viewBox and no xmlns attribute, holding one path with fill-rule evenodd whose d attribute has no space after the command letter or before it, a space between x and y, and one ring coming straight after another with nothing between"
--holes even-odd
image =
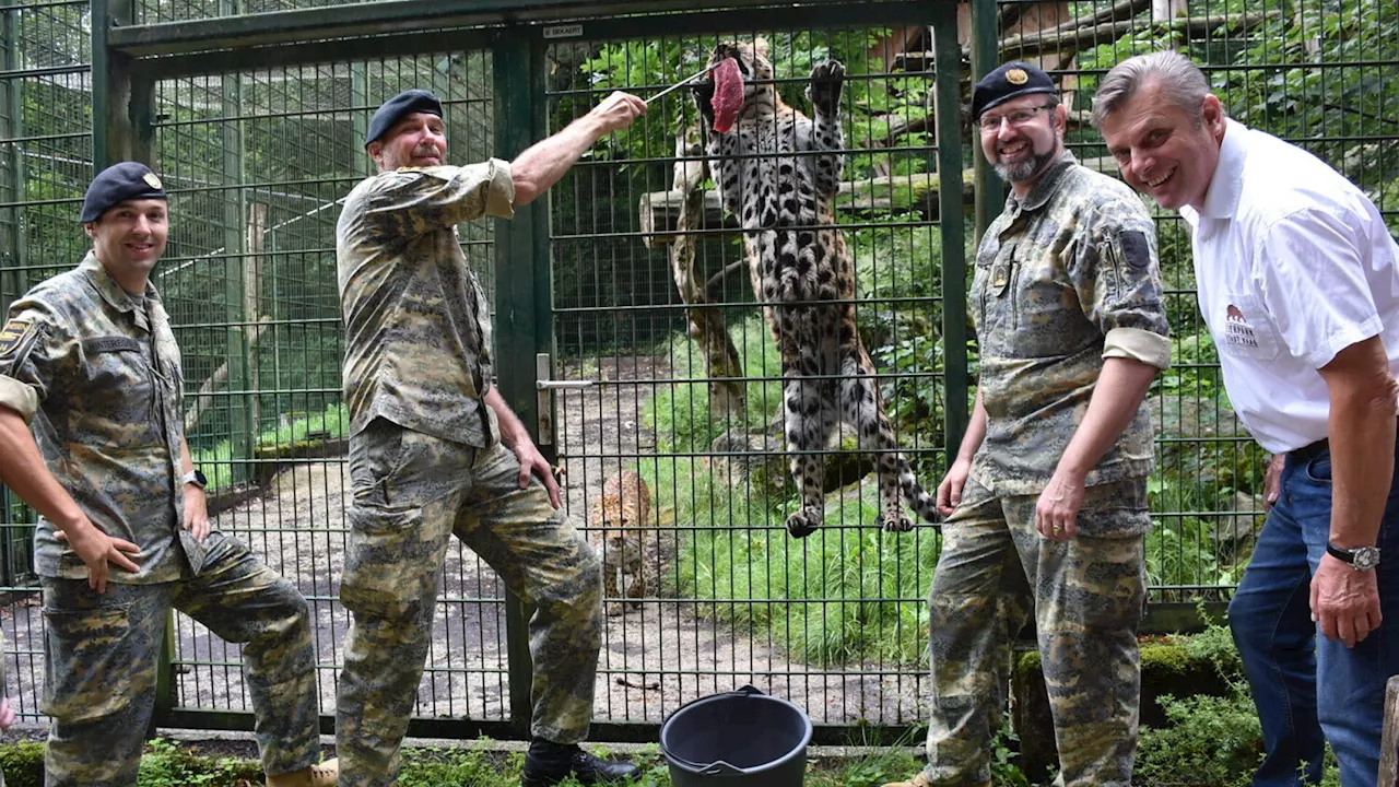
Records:
<instances>
[{"instance_id":1,"label":"camouflage jacket of the bearded man with glasses","mask_svg":"<svg viewBox=\"0 0 1399 787\"><path fill-rule=\"evenodd\" d=\"M1065 153L982 238L971 304L986 438L972 478L996 494L1038 494L1083 420L1102 360L1167 368L1156 228L1123 183ZM1088 472L1095 486L1151 472L1143 402Z\"/></svg>"}]
</instances>

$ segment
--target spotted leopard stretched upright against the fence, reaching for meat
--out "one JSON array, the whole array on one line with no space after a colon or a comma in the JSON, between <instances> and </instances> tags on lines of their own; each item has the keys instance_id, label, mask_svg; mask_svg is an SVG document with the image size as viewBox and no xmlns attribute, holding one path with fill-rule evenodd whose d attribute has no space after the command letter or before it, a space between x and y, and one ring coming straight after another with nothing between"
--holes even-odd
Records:
<instances>
[{"instance_id":1,"label":"spotted leopard stretched upright against the fence, reaching for meat","mask_svg":"<svg viewBox=\"0 0 1399 787\"><path fill-rule=\"evenodd\" d=\"M845 67L811 69L807 98L814 119L788 106L772 83L767 42L720 43L709 64L734 57L743 76L743 108L727 133L713 130L713 81L695 84L704 116L709 172L725 210L737 217L753 290L764 304L782 354L786 447L802 508L788 532L816 532L825 515L823 459L837 424L849 424L863 450L877 452L886 531L909 531L901 499L928 521L936 501L914 478L884 415L874 364L855 325L855 267L835 227L845 146L839 122Z\"/></svg>"}]
</instances>

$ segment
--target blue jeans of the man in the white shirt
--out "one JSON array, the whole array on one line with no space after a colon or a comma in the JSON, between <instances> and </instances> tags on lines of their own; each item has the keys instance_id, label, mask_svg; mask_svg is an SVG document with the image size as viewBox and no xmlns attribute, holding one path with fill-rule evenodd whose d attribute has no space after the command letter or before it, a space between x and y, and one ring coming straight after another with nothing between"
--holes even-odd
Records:
<instances>
[{"instance_id":1,"label":"blue jeans of the man in the white shirt","mask_svg":"<svg viewBox=\"0 0 1399 787\"><path fill-rule=\"evenodd\" d=\"M1287 458L1277 503L1228 606L1263 727L1255 787L1321 781L1326 741L1344 787L1374 787L1379 772L1385 681L1399 674L1399 485L1391 486L1379 529L1382 620L1353 648L1326 639L1311 620L1311 577L1326 553L1330 492L1329 451Z\"/></svg>"}]
</instances>

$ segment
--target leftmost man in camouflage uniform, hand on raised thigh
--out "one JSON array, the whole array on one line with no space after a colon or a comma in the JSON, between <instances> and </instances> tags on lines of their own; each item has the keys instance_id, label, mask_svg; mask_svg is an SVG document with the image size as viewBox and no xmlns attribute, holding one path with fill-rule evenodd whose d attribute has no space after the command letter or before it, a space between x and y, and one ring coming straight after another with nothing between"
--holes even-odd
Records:
<instances>
[{"instance_id":1,"label":"leftmost man in camouflage uniform, hand on raised thigh","mask_svg":"<svg viewBox=\"0 0 1399 787\"><path fill-rule=\"evenodd\" d=\"M185 444L179 347L150 283L165 207L145 165L104 169L83 202L92 251L0 330L3 480L41 514L45 783L136 784L173 606L243 646L267 784L330 787L306 601L210 528Z\"/></svg>"}]
</instances>

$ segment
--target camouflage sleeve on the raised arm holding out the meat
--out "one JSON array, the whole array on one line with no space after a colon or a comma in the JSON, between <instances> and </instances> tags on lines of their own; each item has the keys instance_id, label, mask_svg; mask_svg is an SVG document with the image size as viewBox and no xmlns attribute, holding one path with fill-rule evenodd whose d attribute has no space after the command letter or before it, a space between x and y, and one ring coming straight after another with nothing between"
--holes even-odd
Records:
<instances>
[{"instance_id":1,"label":"camouflage sleeve on the raised arm holding out the meat","mask_svg":"<svg viewBox=\"0 0 1399 787\"><path fill-rule=\"evenodd\" d=\"M368 221L397 235L421 235L483 217L515 217L515 181L508 161L385 172L365 211Z\"/></svg>"}]
</instances>

